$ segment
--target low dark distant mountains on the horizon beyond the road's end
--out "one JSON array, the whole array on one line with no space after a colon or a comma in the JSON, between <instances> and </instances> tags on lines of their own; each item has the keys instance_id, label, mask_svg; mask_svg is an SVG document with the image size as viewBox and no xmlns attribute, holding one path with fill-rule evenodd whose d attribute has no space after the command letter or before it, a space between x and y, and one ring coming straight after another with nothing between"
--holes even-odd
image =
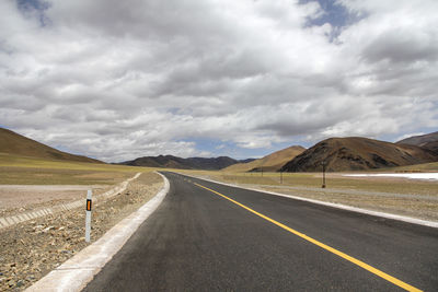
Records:
<instances>
[{"instance_id":1,"label":"low dark distant mountains on the horizon beyond the road's end","mask_svg":"<svg viewBox=\"0 0 438 292\"><path fill-rule=\"evenodd\" d=\"M147 166L147 167L164 167L164 168L178 168L178 170L207 170L218 171L235 163L250 162L250 160L238 161L228 156L220 157L189 157L182 159L172 155L159 155L159 156L145 156L132 161L122 162L123 165L132 166Z\"/></svg>"}]
</instances>

